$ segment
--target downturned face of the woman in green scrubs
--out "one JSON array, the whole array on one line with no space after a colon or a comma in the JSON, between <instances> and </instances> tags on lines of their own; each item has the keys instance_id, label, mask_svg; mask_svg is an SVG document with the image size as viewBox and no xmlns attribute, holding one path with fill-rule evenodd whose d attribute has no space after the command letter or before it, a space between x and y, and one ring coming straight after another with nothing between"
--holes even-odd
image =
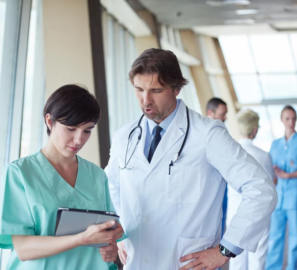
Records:
<instances>
[{"instance_id":1,"label":"downturned face of the woman in green scrubs","mask_svg":"<svg viewBox=\"0 0 297 270\"><path fill-rule=\"evenodd\" d=\"M50 125L49 125L50 122ZM51 125L50 116L47 119L50 129L49 139L55 148L65 157L75 157L80 149L86 144L95 127L94 123L86 123L76 127L69 127L59 122Z\"/></svg>"}]
</instances>

